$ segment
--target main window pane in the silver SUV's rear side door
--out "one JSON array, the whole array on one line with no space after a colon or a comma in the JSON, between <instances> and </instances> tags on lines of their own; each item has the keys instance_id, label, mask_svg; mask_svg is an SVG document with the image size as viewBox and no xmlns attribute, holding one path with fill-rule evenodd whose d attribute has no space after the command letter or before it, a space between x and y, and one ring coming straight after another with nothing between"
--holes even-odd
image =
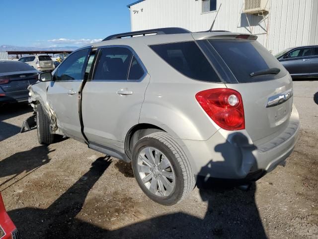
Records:
<instances>
[{"instance_id":1,"label":"main window pane in the silver SUV's rear side door","mask_svg":"<svg viewBox=\"0 0 318 239\"><path fill-rule=\"evenodd\" d=\"M93 80L127 80L132 52L124 47L101 48Z\"/></svg>"}]
</instances>

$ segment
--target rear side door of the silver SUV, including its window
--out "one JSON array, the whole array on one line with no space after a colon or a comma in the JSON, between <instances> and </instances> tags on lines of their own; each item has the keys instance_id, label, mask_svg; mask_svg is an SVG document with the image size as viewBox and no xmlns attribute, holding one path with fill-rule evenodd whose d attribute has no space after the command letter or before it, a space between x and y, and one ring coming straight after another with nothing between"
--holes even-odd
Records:
<instances>
[{"instance_id":1,"label":"rear side door of the silver SUV, including its window","mask_svg":"<svg viewBox=\"0 0 318 239\"><path fill-rule=\"evenodd\" d=\"M126 133L139 123L150 77L125 46L100 48L94 69L82 92L84 134L90 143L122 151Z\"/></svg>"}]
</instances>

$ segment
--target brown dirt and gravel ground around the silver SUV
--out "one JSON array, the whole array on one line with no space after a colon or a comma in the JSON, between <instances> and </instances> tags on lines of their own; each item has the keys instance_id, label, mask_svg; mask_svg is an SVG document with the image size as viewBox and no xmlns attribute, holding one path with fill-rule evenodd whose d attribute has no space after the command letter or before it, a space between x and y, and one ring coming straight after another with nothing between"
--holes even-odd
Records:
<instances>
[{"instance_id":1,"label":"brown dirt and gravel ground around the silver SUV","mask_svg":"<svg viewBox=\"0 0 318 239\"><path fill-rule=\"evenodd\" d=\"M286 167L248 192L194 189L172 207L142 193L130 164L73 139L41 146L36 130L19 133L30 107L2 107L0 190L6 209L24 239L317 239L318 81L294 86L302 130Z\"/></svg>"}]
</instances>

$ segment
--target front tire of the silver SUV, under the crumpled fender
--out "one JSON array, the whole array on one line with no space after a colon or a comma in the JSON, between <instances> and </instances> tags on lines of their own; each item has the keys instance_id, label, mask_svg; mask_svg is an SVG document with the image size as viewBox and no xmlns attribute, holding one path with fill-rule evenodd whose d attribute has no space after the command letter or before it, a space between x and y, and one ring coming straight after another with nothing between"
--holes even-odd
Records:
<instances>
[{"instance_id":1,"label":"front tire of the silver SUV, under the crumpled fender","mask_svg":"<svg viewBox=\"0 0 318 239\"><path fill-rule=\"evenodd\" d=\"M44 112L40 104L36 105L36 124L39 143L53 143L55 134L51 133L50 119L48 118L47 114Z\"/></svg>"}]
</instances>

